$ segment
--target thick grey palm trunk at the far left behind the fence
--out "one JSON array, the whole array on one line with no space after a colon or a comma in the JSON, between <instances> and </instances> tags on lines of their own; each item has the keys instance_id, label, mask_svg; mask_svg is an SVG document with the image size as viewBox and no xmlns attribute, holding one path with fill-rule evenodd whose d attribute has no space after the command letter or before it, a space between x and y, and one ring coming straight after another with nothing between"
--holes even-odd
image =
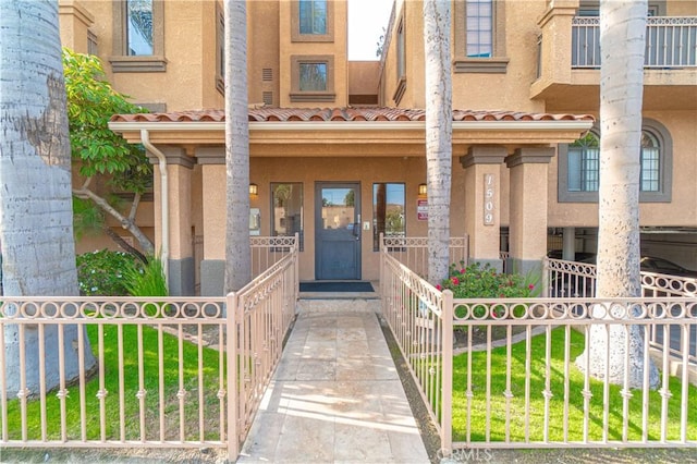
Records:
<instances>
[{"instance_id":1,"label":"thick grey palm trunk at the far left behind the fence","mask_svg":"<svg viewBox=\"0 0 697 464\"><path fill-rule=\"evenodd\" d=\"M56 1L0 2L0 243L7 296L80 294L60 44ZM44 326L40 339L36 326L4 325L5 371L0 383L8 394L37 393L40 370L50 390L61 377L69 382L81 368L94 367L88 343L85 364L78 364L77 326L62 330L63 346L59 346L56 326ZM60 352L65 355L62 373Z\"/></svg>"}]
</instances>

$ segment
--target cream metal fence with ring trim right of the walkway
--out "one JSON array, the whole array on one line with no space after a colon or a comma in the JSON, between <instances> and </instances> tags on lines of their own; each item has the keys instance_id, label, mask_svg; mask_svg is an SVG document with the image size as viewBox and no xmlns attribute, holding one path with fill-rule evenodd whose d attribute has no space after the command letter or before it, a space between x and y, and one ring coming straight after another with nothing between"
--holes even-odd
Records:
<instances>
[{"instance_id":1,"label":"cream metal fence with ring trim right of the walkway","mask_svg":"<svg viewBox=\"0 0 697 464\"><path fill-rule=\"evenodd\" d=\"M381 266L383 315L443 452L697 445L694 296L454 300L387 247ZM663 341L649 343L652 332ZM627 333L638 334L638 344ZM635 389L628 375L611 384L609 367L599 379L588 374L589 357L579 355L623 335L620 346L638 353L645 373L659 368L658 386L648 375ZM602 353L608 359L610 350ZM624 373L635 371L629 357L623 359Z\"/></svg>"}]
</instances>

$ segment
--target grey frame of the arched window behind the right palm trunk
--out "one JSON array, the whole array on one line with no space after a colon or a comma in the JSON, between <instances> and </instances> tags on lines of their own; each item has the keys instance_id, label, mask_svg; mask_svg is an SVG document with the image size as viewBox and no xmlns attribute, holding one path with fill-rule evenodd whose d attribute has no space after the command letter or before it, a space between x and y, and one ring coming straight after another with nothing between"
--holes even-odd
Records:
<instances>
[{"instance_id":1,"label":"grey frame of the arched window behind the right palm trunk","mask_svg":"<svg viewBox=\"0 0 697 464\"><path fill-rule=\"evenodd\" d=\"M599 129L591 130L599 135ZM639 203L670 203L673 191L673 142L668 129L660 122L644 119L641 133L649 133L658 143L659 148L659 188L658 191L643 191L641 172L644 171L644 157L639 174ZM568 145L559 144L558 147L558 202L559 203L598 203L598 191L568 191Z\"/></svg>"}]
</instances>

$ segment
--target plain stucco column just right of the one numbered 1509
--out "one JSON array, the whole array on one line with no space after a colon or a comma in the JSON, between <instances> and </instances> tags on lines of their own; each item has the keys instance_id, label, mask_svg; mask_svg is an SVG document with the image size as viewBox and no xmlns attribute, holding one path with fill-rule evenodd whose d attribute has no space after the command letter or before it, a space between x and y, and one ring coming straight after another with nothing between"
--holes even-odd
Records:
<instances>
[{"instance_id":1,"label":"plain stucco column just right of the one numbered 1509","mask_svg":"<svg viewBox=\"0 0 697 464\"><path fill-rule=\"evenodd\" d=\"M518 148L506 158L511 170L509 233L511 271L539 270L547 253L547 170L554 148Z\"/></svg>"}]
</instances>

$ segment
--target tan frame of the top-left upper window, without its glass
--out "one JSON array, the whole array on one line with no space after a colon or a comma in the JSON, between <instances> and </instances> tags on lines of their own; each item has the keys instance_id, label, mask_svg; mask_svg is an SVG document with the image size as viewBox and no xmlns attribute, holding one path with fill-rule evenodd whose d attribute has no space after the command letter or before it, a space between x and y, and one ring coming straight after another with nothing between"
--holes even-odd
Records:
<instances>
[{"instance_id":1,"label":"tan frame of the top-left upper window, without its glass","mask_svg":"<svg viewBox=\"0 0 697 464\"><path fill-rule=\"evenodd\" d=\"M114 73L164 72L164 2L152 0L152 54L131 56L127 44L127 0L112 3L113 56L109 58Z\"/></svg>"}]
</instances>

